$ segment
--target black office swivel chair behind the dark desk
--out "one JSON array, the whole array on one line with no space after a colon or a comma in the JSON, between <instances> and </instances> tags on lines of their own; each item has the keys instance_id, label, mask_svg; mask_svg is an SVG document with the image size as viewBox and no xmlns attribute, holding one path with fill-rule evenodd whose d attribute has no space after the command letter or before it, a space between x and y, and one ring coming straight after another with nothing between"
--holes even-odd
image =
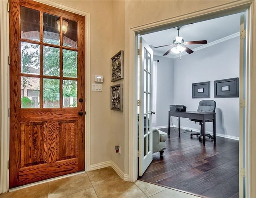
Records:
<instances>
[{"instance_id":1,"label":"black office swivel chair behind the dark desk","mask_svg":"<svg viewBox=\"0 0 256 198\"><path fill-rule=\"evenodd\" d=\"M214 100L201 100L199 102L197 111L198 112L215 112L215 108L216 108L216 102ZM199 122L199 125L201 126L200 133L199 132L191 133L190 138L192 138L193 135L196 135L196 137L199 136L199 140L201 140L201 137L203 135L202 120L196 120L196 119L189 119L189 120L191 120L193 122ZM206 120L206 122L213 122L213 120ZM212 140L213 140L213 137L211 136L211 134L207 133L207 134L205 134L205 136L212 138Z\"/></svg>"}]
</instances>

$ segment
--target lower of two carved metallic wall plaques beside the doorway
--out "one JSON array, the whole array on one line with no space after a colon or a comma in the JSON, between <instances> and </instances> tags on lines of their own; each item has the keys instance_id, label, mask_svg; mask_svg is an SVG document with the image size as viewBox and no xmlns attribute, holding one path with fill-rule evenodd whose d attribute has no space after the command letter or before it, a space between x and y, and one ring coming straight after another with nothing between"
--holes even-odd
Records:
<instances>
[{"instance_id":1,"label":"lower of two carved metallic wall plaques beside the doorway","mask_svg":"<svg viewBox=\"0 0 256 198\"><path fill-rule=\"evenodd\" d=\"M123 111L123 84L116 84L110 87L111 110Z\"/></svg>"}]
</instances>

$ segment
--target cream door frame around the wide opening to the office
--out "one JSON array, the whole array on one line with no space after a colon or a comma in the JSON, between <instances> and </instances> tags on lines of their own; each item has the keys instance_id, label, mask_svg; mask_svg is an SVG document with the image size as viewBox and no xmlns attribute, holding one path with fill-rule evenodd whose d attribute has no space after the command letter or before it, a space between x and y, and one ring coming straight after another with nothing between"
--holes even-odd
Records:
<instances>
[{"instance_id":1,"label":"cream door frame around the wide opening to the office","mask_svg":"<svg viewBox=\"0 0 256 198\"><path fill-rule=\"evenodd\" d=\"M198 11L198 12L194 12L194 13L190 13L190 14L186 14L186 15L182 15L182 16L178 16L178 17L174 17L174 18L170 18L170 19L166 19L166 20L162 20L162 21L158 21L158 22L154 22L151 24L147 24L147 25L143 25L143 26L137 26L135 28L131 28L130 29L130 44L129 44L129 60L130 60L130 65L129 65L129 128L130 128L130 132L129 132L129 177L130 177L130 181L134 182L137 180L138 177L138 160L137 160L137 143L138 143L138 136L137 136L137 46L138 46L138 39L137 36L140 33L149 33L149 32L156 32L159 31L160 28L164 28L166 27L168 24L171 26L170 27L174 27L175 25L178 26L184 22L188 23L188 22L192 22L191 18L193 20L207 20L207 19L211 19L211 18L216 18L218 16L225 16L228 14L232 14L234 12L242 12L246 9L248 9L248 13L254 13L256 12L256 8L254 6L254 0L250 0L250 1L236 1L236 2L231 2L229 4L225 4L222 6L218 6L218 7L214 7L214 8L209 8L206 10L202 10L202 11ZM248 40L252 39L252 32L253 32L253 28L256 26L256 22L252 20L253 16L252 14L250 14L248 16L248 21L250 22L250 28L248 29L248 35L250 35L250 38L248 38ZM251 44L252 46L250 46L250 44L248 44L246 51L247 54L251 54L251 50L254 47L255 44ZM255 62L255 60L247 55L247 57L244 57L246 59L246 63L247 63L247 70L246 70L246 76L250 76L250 68L253 65L253 61ZM250 80L250 81L249 81ZM248 78L247 79L247 90L246 91L246 121L245 121L245 125L246 125L246 134L244 134L245 138L246 138L246 145L244 145L244 148L246 150L246 156L248 156L248 158L246 158L245 161L245 169L246 169L246 178L245 178L245 193L246 195L250 195L251 192L251 188L252 186L250 186L251 183L251 178L250 178L250 172L252 172L252 165L250 164L250 149L252 148L252 146L249 144L248 141L248 137L251 136L252 131L249 128L249 120L250 120L250 84L252 82L252 79ZM242 139L243 137L241 137L241 132L240 132L240 138ZM241 154L240 154L241 155ZM241 156L239 156L240 158ZM255 160L255 159L254 159ZM243 181L239 181L239 186L243 185ZM248 196L250 197L250 196Z\"/></svg>"}]
</instances>

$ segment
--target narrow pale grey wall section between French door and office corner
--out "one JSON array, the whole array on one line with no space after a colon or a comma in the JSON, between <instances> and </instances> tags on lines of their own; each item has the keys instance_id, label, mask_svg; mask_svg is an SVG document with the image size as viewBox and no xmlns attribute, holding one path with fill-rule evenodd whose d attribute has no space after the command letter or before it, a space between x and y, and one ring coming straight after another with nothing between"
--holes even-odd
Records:
<instances>
[{"instance_id":1,"label":"narrow pale grey wall section between French door and office corner","mask_svg":"<svg viewBox=\"0 0 256 198\"><path fill-rule=\"evenodd\" d=\"M166 126L168 123L168 108L173 104L173 62L171 58L154 56L157 63L157 95L156 95L156 126Z\"/></svg>"}]
</instances>

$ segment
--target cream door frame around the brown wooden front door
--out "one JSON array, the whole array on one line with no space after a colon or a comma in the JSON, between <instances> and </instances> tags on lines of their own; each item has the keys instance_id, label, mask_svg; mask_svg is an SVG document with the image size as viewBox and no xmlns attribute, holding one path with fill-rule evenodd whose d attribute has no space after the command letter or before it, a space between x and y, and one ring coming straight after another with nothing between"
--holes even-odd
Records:
<instances>
[{"instance_id":1,"label":"cream door frame around the brown wooden front door","mask_svg":"<svg viewBox=\"0 0 256 198\"><path fill-rule=\"evenodd\" d=\"M60 8L68 12L73 12L85 16L86 20L86 133L85 133L85 171L90 170L90 13L65 6L59 2L50 0L35 0L37 2ZM0 96L0 194L9 190L9 147L10 147L10 119L8 117L8 108L10 106L10 88L9 88L9 14L7 11L8 0L0 0L0 79L1 79L1 96ZM4 124L3 124L4 123Z\"/></svg>"}]
</instances>

